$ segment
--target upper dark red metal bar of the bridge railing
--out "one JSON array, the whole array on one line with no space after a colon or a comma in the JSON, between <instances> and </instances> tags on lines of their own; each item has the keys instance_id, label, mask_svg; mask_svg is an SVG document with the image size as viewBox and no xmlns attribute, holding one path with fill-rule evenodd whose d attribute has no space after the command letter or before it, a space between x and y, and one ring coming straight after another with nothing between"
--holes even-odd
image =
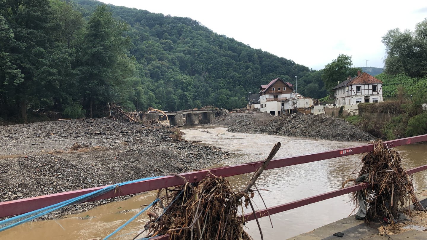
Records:
<instances>
[{"instance_id":1,"label":"upper dark red metal bar of the bridge railing","mask_svg":"<svg viewBox=\"0 0 427 240\"><path fill-rule=\"evenodd\" d=\"M406 145L410 143L417 143L421 141L427 141L427 135L420 135L415 137L391 140L391 141L386 141L384 143L388 147L395 147L395 146L401 146L401 145ZM295 157L273 159L272 161L270 161L270 164L266 169L288 167L288 166L297 165L297 164L304 164L304 163L321 161L321 160L330 159L330 158L337 158L341 156L354 155L354 154L359 154L363 152L370 152L373 149L374 149L374 145L369 144L364 146L355 146L350 148L331 150L327 152L319 152L319 153L312 153L312 154L300 155ZM255 170L257 170L257 168L262 164L262 162L263 161L257 161L257 162L247 163L247 164L237 164L237 165L232 165L227 167L217 167L210 170L200 170L200 171L182 173L180 175L183 176L185 179L187 179L187 181L189 182L200 181L210 173L215 176L228 177L228 176L240 175L244 173L252 173ZM107 199L107 198L112 198L117 196L135 194L135 193L142 193L142 192L156 190L156 189L165 188L165 187L173 187L180 184L183 184L183 181L181 178L177 176L163 176L157 179L150 179L146 181L140 181L140 182L123 185L120 187L120 190L118 191L115 191L115 190L110 191L101 196L97 196L93 199L90 199L87 202L91 202L99 199ZM102 189L104 187L106 186L93 187L93 188L75 190L75 191L63 192L63 193L55 193L55 194L44 195L44 196L36 196L32 198L18 199L18 200L13 200L8 202L0 202L0 217L7 217L7 216L12 216L17 214L23 214L29 211L34 211L49 205L56 204L58 202L65 201L67 199L71 199L76 196L81 196L83 194Z\"/></svg>"}]
</instances>

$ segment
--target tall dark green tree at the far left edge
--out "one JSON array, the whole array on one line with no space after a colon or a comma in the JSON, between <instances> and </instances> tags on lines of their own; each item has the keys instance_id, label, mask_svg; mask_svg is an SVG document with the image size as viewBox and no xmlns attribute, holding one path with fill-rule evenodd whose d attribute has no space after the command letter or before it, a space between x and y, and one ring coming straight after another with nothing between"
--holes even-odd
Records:
<instances>
[{"instance_id":1,"label":"tall dark green tree at the far left edge","mask_svg":"<svg viewBox=\"0 0 427 240\"><path fill-rule=\"evenodd\" d=\"M3 104L16 106L26 120L29 103L46 93L38 82L38 70L48 63L48 53L53 47L50 38L52 12L47 0L9 0L0 2L0 27L3 81ZM0 76L1 77L1 76Z\"/></svg>"}]
</instances>

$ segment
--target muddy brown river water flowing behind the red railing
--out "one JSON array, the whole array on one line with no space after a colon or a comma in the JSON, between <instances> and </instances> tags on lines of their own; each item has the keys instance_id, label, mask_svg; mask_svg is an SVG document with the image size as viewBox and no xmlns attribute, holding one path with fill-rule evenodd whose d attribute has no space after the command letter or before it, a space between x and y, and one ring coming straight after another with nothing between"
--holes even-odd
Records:
<instances>
[{"instance_id":1,"label":"muddy brown river water flowing behind the red railing","mask_svg":"<svg viewBox=\"0 0 427 240\"><path fill-rule=\"evenodd\" d=\"M183 129L183 132L186 133L184 138L187 140L200 140L203 143L218 146L233 153L232 158L212 167L261 161L266 158L272 146L278 141L281 142L281 149L276 154L276 158L365 144L265 134L230 133L225 128L207 128L206 126ZM426 144L411 144L396 149L402 155L406 168L418 167L427 163ZM257 187L269 190L261 192L267 207L336 190L341 187L343 181L347 180L357 170L361 158L362 155L359 154L266 170L258 178ZM251 176L252 173L228 177L227 179L235 190L240 190ZM416 173L413 177L413 183L417 190L426 189L427 171ZM0 232L0 240L103 239L139 212L140 205L148 204L154 198L155 192L142 193L125 201L101 205L85 213L69 215L63 219L27 222ZM264 239L287 239L348 217L352 214L354 207L350 199L351 194L347 194L274 214L271 216L273 228L268 217L263 218L260 220L260 224ZM258 196L255 197L254 202L257 208L264 208ZM135 237L146 221L143 215L109 239L130 240ZM246 231L254 239L260 239L255 221L248 222L246 227Z\"/></svg>"}]
</instances>

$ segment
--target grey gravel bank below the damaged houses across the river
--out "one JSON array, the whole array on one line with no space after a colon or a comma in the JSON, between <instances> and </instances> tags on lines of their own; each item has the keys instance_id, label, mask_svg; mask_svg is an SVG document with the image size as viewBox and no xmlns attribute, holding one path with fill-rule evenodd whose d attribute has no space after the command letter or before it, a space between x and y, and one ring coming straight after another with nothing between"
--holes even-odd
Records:
<instances>
[{"instance_id":1,"label":"grey gravel bank below the damaged houses across the river","mask_svg":"<svg viewBox=\"0 0 427 240\"><path fill-rule=\"evenodd\" d=\"M266 133L333 141L377 139L343 119L329 117L325 114L274 117L265 112L233 113L221 116L211 124L227 126L228 132Z\"/></svg>"}]
</instances>

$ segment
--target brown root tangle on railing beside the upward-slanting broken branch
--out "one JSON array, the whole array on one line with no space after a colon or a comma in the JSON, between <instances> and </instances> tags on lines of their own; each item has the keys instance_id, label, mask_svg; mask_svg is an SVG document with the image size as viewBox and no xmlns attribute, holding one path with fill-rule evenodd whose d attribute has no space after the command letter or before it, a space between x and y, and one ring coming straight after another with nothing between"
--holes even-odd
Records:
<instances>
[{"instance_id":1,"label":"brown root tangle on railing beside the upward-slanting broken branch","mask_svg":"<svg viewBox=\"0 0 427 240\"><path fill-rule=\"evenodd\" d=\"M164 193L161 193L164 192ZM159 191L161 201L145 225L147 237L170 234L170 239L252 239L243 230L240 214L245 193L236 193L223 177Z\"/></svg>"}]
</instances>

